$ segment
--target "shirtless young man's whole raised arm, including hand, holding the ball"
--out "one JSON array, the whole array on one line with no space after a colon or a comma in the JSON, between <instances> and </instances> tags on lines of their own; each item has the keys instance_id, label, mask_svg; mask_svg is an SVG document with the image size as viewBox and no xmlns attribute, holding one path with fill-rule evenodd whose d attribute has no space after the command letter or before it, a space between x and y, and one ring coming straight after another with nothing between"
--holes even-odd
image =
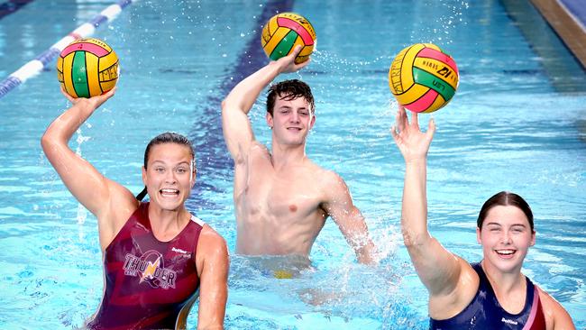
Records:
<instances>
[{"instance_id":1,"label":"shirtless young man's whole raised arm, including hand, holding the ball","mask_svg":"<svg viewBox=\"0 0 586 330\"><path fill-rule=\"evenodd\" d=\"M236 87L233 87L230 94L222 102L224 140L233 160L241 160L243 152L248 151L254 141L248 113L261 94L262 89L267 87L279 74L295 72L309 63L307 60L304 63L295 64L295 57L299 51L301 51L300 46L287 57L277 61L270 61L269 64L243 79Z\"/></svg>"}]
</instances>

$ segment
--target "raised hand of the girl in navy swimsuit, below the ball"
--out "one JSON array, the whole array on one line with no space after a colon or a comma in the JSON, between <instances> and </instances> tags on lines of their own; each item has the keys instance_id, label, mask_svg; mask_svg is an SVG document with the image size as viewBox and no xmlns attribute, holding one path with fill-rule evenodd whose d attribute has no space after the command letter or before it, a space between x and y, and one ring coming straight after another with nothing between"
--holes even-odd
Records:
<instances>
[{"instance_id":1,"label":"raised hand of the girl in navy swimsuit, below the ball","mask_svg":"<svg viewBox=\"0 0 586 330\"><path fill-rule=\"evenodd\" d=\"M435 122L434 119L430 119L427 132L423 133L419 129L417 113L413 113L411 123L409 123L405 108L399 105L397 118L395 124L390 128L390 133L392 133L393 139L406 162L422 160L426 159L429 145L434 138Z\"/></svg>"}]
</instances>

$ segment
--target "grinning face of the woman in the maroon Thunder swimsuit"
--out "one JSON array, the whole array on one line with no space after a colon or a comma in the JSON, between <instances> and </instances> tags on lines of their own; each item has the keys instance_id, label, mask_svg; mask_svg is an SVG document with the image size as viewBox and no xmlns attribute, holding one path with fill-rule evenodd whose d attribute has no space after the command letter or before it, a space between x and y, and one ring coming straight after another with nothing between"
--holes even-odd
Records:
<instances>
[{"instance_id":1,"label":"grinning face of the woman in the maroon Thunder swimsuit","mask_svg":"<svg viewBox=\"0 0 586 330\"><path fill-rule=\"evenodd\" d=\"M188 199L196 183L196 170L189 147L178 143L153 145L142 181L147 188L151 205L177 211Z\"/></svg>"}]
</instances>

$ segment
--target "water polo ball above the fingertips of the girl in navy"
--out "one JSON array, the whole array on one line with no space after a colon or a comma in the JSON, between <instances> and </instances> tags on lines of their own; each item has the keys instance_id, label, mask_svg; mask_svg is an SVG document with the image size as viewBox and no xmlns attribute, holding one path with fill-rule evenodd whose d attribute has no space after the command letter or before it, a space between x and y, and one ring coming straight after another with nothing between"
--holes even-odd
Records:
<instances>
[{"instance_id":1,"label":"water polo ball above the fingertips of the girl in navy","mask_svg":"<svg viewBox=\"0 0 586 330\"><path fill-rule=\"evenodd\" d=\"M459 81L456 62L432 43L401 50L389 69L390 92L399 105L416 113L432 113L447 105Z\"/></svg>"}]
</instances>

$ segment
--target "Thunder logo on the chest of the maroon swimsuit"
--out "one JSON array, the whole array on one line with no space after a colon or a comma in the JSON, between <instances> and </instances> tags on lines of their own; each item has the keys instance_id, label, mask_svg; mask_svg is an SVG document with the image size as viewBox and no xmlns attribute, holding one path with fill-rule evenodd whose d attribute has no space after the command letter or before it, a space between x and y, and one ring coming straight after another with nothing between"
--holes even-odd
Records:
<instances>
[{"instance_id":1,"label":"Thunder logo on the chest of the maroon swimsuit","mask_svg":"<svg viewBox=\"0 0 586 330\"><path fill-rule=\"evenodd\" d=\"M165 268L162 255L154 250L144 252L140 258L126 254L123 269L124 275L139 277L140 283L147 282L152 288L175 289L177 273Z\"/></svg>"}]
</instances>

